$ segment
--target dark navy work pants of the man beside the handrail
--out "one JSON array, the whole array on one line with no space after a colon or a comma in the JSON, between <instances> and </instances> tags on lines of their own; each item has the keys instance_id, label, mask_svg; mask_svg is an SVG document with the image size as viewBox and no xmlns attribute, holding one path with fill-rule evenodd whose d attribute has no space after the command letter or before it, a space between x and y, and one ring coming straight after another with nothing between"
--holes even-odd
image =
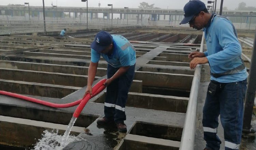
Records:
<instances>
[{"instance_id":1,"label":"dark navy work pants of the man beside the handrail","mask_svg":"<svg viewBox=\"0 0 256 150\"><path fill-rule=\"evenodd\" d=\"M212 82L212 81L211 81ZM219 150L221 140L217 136L218 116L224 129L225 150L238 150L243 127L243 104L247 80L219 83L214 95L207 92L203 107L203 131L206 148Z\"/></svg>"}]
</instances>

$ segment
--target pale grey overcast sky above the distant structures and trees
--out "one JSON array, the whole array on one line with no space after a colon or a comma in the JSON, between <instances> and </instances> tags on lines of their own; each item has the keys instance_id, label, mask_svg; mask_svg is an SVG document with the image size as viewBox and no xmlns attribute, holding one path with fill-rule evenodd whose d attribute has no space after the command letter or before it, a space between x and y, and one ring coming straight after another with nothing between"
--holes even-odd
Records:
<instances>
[{"instance_id":1,"label":"pale grey overcast sky above the distant structures and trees","mask_svg":"<svg viewBox=\"0 0 256 150\"><path fill-rule=\"evenodd\" d=\"M108 7L108 4L113 4L115 8L138 8L141 2L146 2L148 4L155 4L155 7L160 7L161 9L167 9L167 7L168 9L183 9L188 1L189 0L88 0L88 7L99 7L98 3L100 2L100 7ZM207 4L208 0L202 1ZM43 5L43 0L1 0L0 5L24 4L24 2L29 2L30 6ZM58 6L86 7L86 2L81 2L81 0L44 0L44 5L51 6L52 2L53 5L57 3ZM217 0L217 9L220 7L220 2L221 0ZM228 7L229 10L234 10L238 7L240 2L245 2L246 6L256 7L256 0L224 0L223 6Z\"/></svg>"}]
</instances>

